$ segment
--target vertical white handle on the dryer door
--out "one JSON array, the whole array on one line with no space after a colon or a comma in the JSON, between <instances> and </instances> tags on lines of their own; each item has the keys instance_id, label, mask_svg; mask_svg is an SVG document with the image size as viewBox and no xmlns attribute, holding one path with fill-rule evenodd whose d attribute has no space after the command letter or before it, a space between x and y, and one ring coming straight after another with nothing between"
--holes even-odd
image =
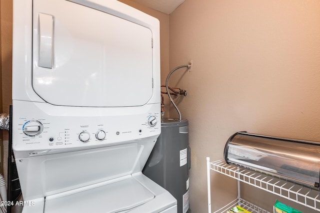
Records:
<instances>
[{"instance_id":1,"label":"vertical white handle on the dryer door","mask_svg":"<svg viewBox=\"0 0 320 213\"><path fill-rule=\"evenodd\" d=\"M53 16L39 13L39 66L53 65Z\"/></svg>"}]
</instances>

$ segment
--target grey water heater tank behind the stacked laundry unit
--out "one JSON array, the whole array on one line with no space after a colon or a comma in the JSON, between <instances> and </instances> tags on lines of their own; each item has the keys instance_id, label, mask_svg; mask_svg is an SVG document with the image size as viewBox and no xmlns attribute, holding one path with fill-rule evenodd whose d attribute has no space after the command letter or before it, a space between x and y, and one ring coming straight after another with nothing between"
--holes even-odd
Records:
<instances>
[{"instance_id":1,"label":"grey water heater tank behind the stacked laundry unit","mask_svg":"<svg viewBox=\"0 0 320 213\"><path fill-rule=\"evenodd\" d=\"M164 118L142 173L177 200L177 213L190 213L189 169L188 121Z\"/></svg>"}]
</instances>

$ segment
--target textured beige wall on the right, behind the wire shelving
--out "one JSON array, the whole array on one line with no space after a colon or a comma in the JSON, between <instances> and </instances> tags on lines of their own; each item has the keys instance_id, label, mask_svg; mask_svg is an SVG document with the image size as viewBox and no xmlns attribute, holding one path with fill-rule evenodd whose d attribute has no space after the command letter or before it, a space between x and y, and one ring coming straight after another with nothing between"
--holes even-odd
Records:
<instances>
[{"instance_id":1,"label":"textured beige wall on the right, behind the wire shelving","mask_svg":"<svg viewBox=\"0 0 320 213\"><path fill-rule=\"evenodd\" d=\"M231 134L320 141L319 0L186 0L169 30L170 68L194 61L171 80L188 90L178 106L189 120L193 213L207 212L205 157L222 159ZM216 210L236 188L211 175ZM269 194L245 192L272 211Z\"/></svg>"}]
</instances>

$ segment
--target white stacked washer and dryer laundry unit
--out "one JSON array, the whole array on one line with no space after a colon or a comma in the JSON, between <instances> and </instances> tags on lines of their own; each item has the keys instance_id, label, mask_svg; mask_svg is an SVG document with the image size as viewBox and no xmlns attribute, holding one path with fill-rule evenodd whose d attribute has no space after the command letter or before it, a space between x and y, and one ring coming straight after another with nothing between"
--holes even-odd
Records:
<instances>
[{"instance_id":1,"label":"white stacked washer and dryer laundry unit","mask_svg":"<svg viewBox=\"0 0 320 213\"><path fill-rule=\"evenodd\" d=\"M160 134L157 19L116 0L13 0L23 213L176 213L142 175Z\"/></svg>"}]
</instances>

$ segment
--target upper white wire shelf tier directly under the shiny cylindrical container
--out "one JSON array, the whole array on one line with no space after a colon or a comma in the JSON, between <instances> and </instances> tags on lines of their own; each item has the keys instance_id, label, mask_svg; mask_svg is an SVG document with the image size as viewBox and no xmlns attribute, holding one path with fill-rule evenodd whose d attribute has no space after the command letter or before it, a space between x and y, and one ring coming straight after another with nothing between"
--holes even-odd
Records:
<instances>
[{"instance_id":1,"label":"upper white wire shelf tier directly under the shiny cylindrical container","mask_svg":"<svg viewBox=\"0 0 320 213\"><path fill-rule=\"evenodd\" d=\"M209 165L210 170L280 196L289 201L293 201L310 209L320 211L320 193L318 191L251 170L228 165L224 160L210 162Z\"/></svg>"}]
</instances>

